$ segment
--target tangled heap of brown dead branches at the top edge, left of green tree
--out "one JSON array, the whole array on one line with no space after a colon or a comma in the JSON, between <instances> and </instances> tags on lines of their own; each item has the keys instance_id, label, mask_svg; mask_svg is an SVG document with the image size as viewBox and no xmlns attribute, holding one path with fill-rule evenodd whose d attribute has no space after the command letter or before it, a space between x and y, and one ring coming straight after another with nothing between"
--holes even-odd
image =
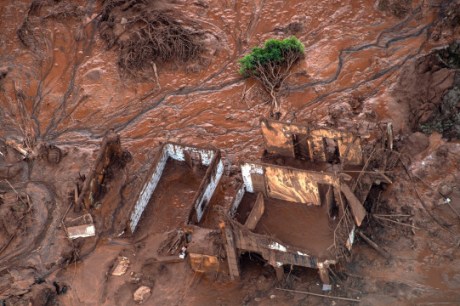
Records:
<instances>
[{"instance_id":1,"label":"tangled heap of brown dead branches at the top edge, left of green tree","mask_svg":"<svg viewBox=\"0 0 460 306\"><path fill-rule=\"evenodd\" d=\"M105 1L99 32L118 49L122 75L133 78L151 75L157 64L199 60L203 52L197 23L159 1Z\"/></svg>"}]
</instances>

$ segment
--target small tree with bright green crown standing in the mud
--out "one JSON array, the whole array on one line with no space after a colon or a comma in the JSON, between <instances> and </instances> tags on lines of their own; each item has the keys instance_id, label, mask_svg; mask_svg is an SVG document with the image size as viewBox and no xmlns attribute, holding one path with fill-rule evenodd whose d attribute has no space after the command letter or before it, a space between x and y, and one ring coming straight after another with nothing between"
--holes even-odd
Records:
<instances>
[{"instance_id":1,"label":"small tree with bright green crown standing in the mud","mask_svg":"<svg viewBox=\"0 0 460 306\"><path fill-rule=\"evenodd\" d=\"M240 59L240 74L258 80L272 98L272 109L279 113L278 95L292 66L304 56L305 47L294 36L269 39Z\"/></svg>"}]
</instances>

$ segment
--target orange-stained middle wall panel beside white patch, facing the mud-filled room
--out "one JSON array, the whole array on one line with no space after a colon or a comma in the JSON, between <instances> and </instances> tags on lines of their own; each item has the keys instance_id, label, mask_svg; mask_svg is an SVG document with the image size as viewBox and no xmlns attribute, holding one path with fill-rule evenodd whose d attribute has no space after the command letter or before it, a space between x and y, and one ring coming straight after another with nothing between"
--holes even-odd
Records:
<instances>
[{"instance_id":1,"label":"orange-stained middle wall panel beside white patch, facing the mud-filled room","mask_svg":"<svg viewBox=\"0 0 460 306\"><path fill-rule=\"evenodd\" d=\"M265 178L269 197L297 203L321 204L317 181L308 172L266 166Z\"/></svg>"}]
</instances>

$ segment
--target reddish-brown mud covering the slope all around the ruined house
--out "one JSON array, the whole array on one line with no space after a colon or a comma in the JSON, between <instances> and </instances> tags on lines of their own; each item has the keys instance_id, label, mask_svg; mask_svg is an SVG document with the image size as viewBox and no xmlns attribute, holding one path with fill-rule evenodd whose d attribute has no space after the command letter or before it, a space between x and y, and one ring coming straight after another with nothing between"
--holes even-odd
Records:
<instances>
[{"instance_id":1,"label":"reddish-brown mud covering the slope all around the ruined house","mask_svg":"<svg viewBox=\"0 0 460 306\"><path fill-rule=\"evenodd\" d=\"M458 304L458 1L124 2L134 6L110 16L95 0L0 4L1 304L132 305L140 285L152 290L147 305L355 304L276 289L321 293L315 271L294 270L279 284L245 258L239 282L200 277L152 257L160 234L118 238L162 143L221 149L227 177L216 201L233 196L238 163L263 152L259 120L269 116L267 95L237 73L238 59L290 35L305 58L288 80L281 119L357 131L392 122L400 154L393 184L366 203L380 217L365 231L392 257L358 242L330 294L362 305ZM169 53L193 60L123 62L136 4L195 33L196 49ZM70 241L69 192L110 129L132 161L114 170L92 211L98 235ZM131 262L122 278L110 276L119 256Z\"/></svg>"}]
</instances>

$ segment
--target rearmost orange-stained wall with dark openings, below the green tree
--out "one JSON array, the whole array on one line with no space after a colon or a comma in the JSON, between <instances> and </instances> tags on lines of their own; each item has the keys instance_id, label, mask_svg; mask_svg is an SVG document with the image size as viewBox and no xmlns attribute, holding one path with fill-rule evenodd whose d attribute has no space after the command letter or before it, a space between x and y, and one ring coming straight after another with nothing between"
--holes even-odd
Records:
<instances>
[{"instance_id":1,"label":"rearmost orange-stained wall with dark openings, below the green tree","mask_svg":"<svg viewBox=\"0 0 460 306\"><path fill-rule=\"evenodd\" d=\"M338 153L350 165L363 163L361 139L349 132L268 119L261 120L261 131L270 153L322 162Z\"/></svg>"}]
</instances>

